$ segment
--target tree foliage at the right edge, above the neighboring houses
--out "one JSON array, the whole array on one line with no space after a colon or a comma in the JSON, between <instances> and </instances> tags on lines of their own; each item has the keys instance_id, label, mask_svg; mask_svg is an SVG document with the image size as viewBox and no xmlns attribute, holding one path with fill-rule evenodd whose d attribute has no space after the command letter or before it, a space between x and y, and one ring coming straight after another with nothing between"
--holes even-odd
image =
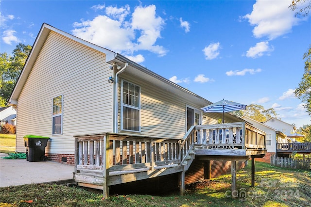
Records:
<instances>
[{"instance_id":1,"label":"tree foliage at the right edge, above the neighboring houses","mask_svg":"<svg viewBox=\"0 0 311 207\"><path fill-rule=\"evenodd\" d=\"M305 72L294 93L304 103L304 108L311 115L311 45L304 54L303 59L305 60Z\"/></svg>"}]
</instances>

